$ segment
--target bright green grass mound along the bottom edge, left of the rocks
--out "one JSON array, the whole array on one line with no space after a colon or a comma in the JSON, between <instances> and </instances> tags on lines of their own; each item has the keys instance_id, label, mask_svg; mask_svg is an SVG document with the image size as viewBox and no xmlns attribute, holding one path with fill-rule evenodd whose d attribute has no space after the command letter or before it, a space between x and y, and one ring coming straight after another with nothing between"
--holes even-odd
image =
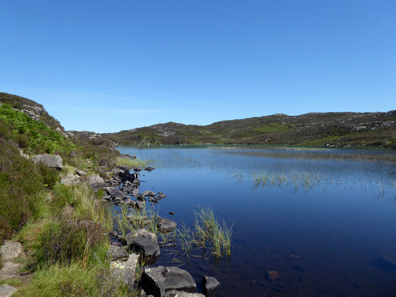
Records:
<instances>
[{"instance_id":1,"label":"bright green grass mound along the bottom edge, left of the rocks","mask_svg":"<svg viewBox=\"0 0 396 297\"><path fill-rule=\"evenodd\" d=\"M129 291L120 280L99 266L85 269L79 263L71 263L37 271L32 281L20 288L16 296L137 297L140 292Z\"/></svg>"}]
</instances>

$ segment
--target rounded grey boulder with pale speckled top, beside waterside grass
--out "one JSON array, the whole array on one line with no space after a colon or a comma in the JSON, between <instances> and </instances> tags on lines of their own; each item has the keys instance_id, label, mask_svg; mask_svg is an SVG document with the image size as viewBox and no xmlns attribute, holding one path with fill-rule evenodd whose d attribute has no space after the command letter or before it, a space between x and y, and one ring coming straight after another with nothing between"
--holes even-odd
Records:
<instances>
[{"instance_id":1,"label":"rounded grey boulder with pale speckled top, beside waterside grass","mask_svg":"<svg viewBox=\"0 0 396 297\"><path fill-rule=\"evenodd\" d=\"M136 232L130 232L125 236L128 246L139 246L148 257L158 257L160 255L157 237L155 234L148 232L146 229L139 229Z\"/></svg>"}]
</instances>

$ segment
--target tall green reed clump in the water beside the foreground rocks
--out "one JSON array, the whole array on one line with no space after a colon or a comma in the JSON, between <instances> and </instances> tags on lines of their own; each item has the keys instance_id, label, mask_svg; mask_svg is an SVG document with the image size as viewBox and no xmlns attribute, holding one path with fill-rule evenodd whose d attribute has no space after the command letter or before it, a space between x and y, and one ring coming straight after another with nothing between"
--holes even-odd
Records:
<instances>
[{"instance_id":1,"label":"tall green reed clump in the water beside the foreground rocks","mask_svg":"<svg viewBox=\"0 0 396 297\"><path fill-rule=\"evenodd\" d=\"M181 224L176 230L176 238L182 249L187 252L193 247L203 247L215 258L229 258L232 233L232 226L228 227L224 220L220 223L211 208L200 207L195 213L194 231Z\"/></svg>"}]
</instances>

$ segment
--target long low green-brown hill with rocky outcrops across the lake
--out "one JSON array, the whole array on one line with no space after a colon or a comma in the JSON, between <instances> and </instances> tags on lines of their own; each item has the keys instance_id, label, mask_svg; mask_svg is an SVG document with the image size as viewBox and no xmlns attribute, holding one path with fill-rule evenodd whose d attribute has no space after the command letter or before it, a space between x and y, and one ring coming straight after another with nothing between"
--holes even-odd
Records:
<instances>
[{"instance_id":1,"label":"long low green-brown hill with rocky outcrops across the lake","mask_svg":"<svg viewBox=\"0 0 396 297\"><path fill-rule=\"evenodd\" d=\"M168 122L101 135L120 145L160 143L396 148L396 110L311 112L297 116L276 113L206 126Z\"/></svg>"}]
</instances>

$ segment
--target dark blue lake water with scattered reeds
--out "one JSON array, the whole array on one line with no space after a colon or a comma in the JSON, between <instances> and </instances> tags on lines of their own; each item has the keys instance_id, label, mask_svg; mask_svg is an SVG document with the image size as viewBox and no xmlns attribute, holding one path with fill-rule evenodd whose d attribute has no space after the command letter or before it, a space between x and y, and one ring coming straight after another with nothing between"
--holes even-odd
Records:
<instances>
[{"instance_id":1,"label":"dark blue lake water with scattered reeds","mask_svg":"<svg viewBox=\"0 0 396 297\"><path fill-rule=\"evenodd\" d=\"M233 224L229 260L193 256L182 263L197 292L202 275L208 275L221 283L211 296L396 296L396 162L353 158L395 152L118 149L151 160L156 169L140 172L140 190L168 196L155 205L160 216L192 225L198 205L210 206L220 220ZM317 158L318 153L324 156ZM267 175L265 186L255 184L258 173ZM289 183L281 183L280 175ZM293 176L317 178L294 182ZM179 264L172 263L175 249L162 248L155 265ZM279 278L268 281L269 270Z\"/></svg>"}]
</instances>

